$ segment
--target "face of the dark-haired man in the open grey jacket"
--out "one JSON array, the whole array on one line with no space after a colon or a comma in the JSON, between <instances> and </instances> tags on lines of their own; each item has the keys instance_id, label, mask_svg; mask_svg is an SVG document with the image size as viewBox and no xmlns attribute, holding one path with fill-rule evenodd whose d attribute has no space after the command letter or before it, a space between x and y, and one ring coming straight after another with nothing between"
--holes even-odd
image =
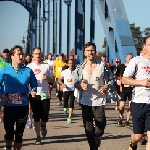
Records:
<instances>
[{"instance_id":1,"label":"face of the dark-haired man in the open grey jacket","mask_svg":"<svg viewBox=\"0 0 150 150\"><path fill-rule=\"evenodd\" d=\"M86 56L87 60L92 61L96 55L94 46L91 45L91 46L86 47L84 51L84 55Z\"/></svg>"}]
</instances>

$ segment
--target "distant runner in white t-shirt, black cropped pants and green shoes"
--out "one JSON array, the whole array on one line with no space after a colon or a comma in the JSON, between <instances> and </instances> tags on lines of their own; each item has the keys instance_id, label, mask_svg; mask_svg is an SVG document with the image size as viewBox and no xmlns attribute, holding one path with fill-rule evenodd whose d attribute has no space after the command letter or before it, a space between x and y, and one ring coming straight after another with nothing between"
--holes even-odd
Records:
<instances>
[{"instance_id":1,"label":"distant runner in white t-shirt, black cropped pants and green shoes","mask_svg":"<svg viewBox=\"0 0 150 150\"><path fill-rule=\"evenodd\" d=\"M67 114L67 108L69 108L69 116L67 118L67 122L71 123L72 112L74 108L74 85L73 85L73 75L72 72L74 70L74 60L68 60L67 62L68 69L65 69L61 72L60 77L58 78L58 82L63 87L63 97L64 97L64 114ZM64 83L62 82L64 81ZM68 105L68 101L70 98L70 104Z\"/></svg>"}]
</instances>

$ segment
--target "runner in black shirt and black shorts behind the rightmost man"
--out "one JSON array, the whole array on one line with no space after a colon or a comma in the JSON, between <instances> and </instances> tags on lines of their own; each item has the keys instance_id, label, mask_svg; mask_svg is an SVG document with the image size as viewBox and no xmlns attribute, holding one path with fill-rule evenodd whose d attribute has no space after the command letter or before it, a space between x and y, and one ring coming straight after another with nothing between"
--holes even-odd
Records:
<instances>
[{"instance_id":1,"label":"runner in black shirt and black shorts behind the rightmost man","mask_svg":"<svg viewBox=\"0 0 150 150\"><path fill-rule=\"evenodd\" d=\"M117 72L116 72L116 76L118 77L118 80L120 80L120 82L118 81L118 85L120 85L120 96L121 96L121 100L119 101L119 121L118 121L118 125L122 126L123 125L123 120L124 120L124 108L125 108L125 102L126 100L128 100L128 109L127 109L127 117L126 117L126 121L124 126L125 127L130 127L129 124L129 120L130 120L130 116L131 116L131 111L130 111L130 103L132 100L132 90L133 87L131 87L130 85L125 85L122 83L122 77L123 77L123 73L125 71L125 68L128 66L130 60L132 59L133 55L131 53L127 54L126 56L126 63L121 64L120 66L118 66L117 68Z\"/></svg>"}]
</instances>

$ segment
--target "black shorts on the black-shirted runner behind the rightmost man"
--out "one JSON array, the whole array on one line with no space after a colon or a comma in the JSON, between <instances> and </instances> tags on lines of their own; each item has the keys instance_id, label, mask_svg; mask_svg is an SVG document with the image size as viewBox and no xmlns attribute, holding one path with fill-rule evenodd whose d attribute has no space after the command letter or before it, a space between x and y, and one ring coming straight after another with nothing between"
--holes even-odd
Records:
<instances>
[{"instance_id":1,"label":"black shorts on the black-shirted runner behind the rightmost man","mask_svg":"<svg viewBox=\"0 0 150 150\"><path fill-rule=\"evenodd\" d=\"M132 88L122 88L122 92L120 93L120 101L131 101L132 100Z\"/></svg>"}]
</instances>

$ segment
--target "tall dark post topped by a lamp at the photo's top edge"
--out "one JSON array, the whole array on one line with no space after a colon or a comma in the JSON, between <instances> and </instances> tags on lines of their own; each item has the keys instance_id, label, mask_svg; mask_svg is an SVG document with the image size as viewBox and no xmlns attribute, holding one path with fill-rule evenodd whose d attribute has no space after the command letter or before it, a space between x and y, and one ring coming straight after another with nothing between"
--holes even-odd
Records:
<instances>
[{"instance_id":1,"label":"tall dark post topped by a lamp at the photo's top edge","mask_svg":"<svg viewBox=\"0 0 150 150\"><path fill-rule=\"evenodd\" d=\"M67 4L67 56L71 50L71 2L72 0L64 0L64 3Z\"/></svg>"}]
</instances>

